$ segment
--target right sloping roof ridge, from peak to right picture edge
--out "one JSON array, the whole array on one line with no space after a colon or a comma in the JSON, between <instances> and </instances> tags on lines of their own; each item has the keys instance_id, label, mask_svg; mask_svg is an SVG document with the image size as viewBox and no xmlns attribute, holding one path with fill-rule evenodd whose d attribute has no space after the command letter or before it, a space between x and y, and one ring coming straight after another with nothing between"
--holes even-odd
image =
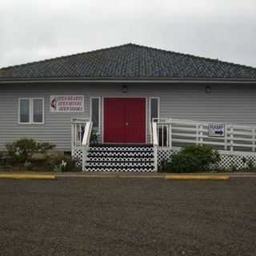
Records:
<instances>
[{"instance_id":1,"label":"right sloping roof ridge, from peak to right picture edge","mask_svg":"<svg viewBox=\"0 0 256 256\"><path fill-rule=\"evenodd\" d=\"M143 47L143 48L147 48L147 49L151 49L151 50L163 51L163 52L170 53L170 54L177 54L177 55L187 56L187 57L191 57L191 58L199 58L199 59L203 59L203 60L211 61L211 62L221 62L221 63L233 65L233 66L242 66L242 67L246 67L246 68L256 70L256 66L254 67L254 66L248 66L248 65L245 65L245 64L222 61L218 58L217 59L216 58L206 58L206 57L202 57L202 56L198 56L198 55L194 55L194 54L185 54L185 53L180 53L180 52L177 52L177 51L174 51L174 50L164 50L164 49L160 49L160 48L157 48L157 47L142 46L142 45L138 45L138 44L134 44L134 43L128 43L127 45L139 46L139 47Z\"/></svg>"}]
</instances>

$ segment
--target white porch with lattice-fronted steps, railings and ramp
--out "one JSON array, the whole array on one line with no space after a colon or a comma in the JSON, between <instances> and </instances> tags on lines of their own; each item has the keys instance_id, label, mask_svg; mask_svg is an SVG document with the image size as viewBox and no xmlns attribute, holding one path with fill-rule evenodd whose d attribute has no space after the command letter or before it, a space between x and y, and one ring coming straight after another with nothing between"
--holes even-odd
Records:
<instances>
[{"instance_id":1,"label":"white porch with lattice-fronted steps, railings and ramp","mask_svg":"<svg viewBox=\"0 0 256 256\"><path fill-rule=\"evenodd\" d=\"M72 156L82 170L157 171L160 162L188 145L209 145L221 154L219 167L256 164L256 127L223 124L223 134L210 134L210 122L165 118L151 123L149 144L90 143L92 122L72 124ZM219 132L220 133L220 132Z\"/></svg>"}]
</instances>

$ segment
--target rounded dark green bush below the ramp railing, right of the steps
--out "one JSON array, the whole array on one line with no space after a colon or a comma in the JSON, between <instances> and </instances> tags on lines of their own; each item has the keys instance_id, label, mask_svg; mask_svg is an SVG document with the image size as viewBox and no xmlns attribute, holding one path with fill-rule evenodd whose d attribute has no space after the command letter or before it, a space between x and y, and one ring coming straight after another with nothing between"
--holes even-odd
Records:
<instances>
[{"instance_id":1,"label":"rounded dark green bush below the ramp railing, right of the steps","mask_svg":"<svg viewBox=\"0 0 256 256\"><path fill-rule=\"evenodd\" d=\"M210 146L187 146L178 154L172 154L166 164L167 172L192 173L209 171L220 161L218 150Z\"/></svg>"}]
</instances>

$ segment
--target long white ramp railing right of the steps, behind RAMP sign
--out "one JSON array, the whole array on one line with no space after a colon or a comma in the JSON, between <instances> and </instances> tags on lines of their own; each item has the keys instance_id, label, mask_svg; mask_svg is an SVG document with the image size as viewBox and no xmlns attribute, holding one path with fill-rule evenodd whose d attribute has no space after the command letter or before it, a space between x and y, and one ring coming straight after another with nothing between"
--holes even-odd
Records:
<instances>
[{"instance_id":1,"label":"long white ramp railing right of the steps, behind RAMP sign","mask_svg":"<svg viewBox=\"0 0 256 256\"><path fill-rule=\"evenodd\" d=\"M256 126L223 123L223 134L210 135L211 122L158 118L152 122L152 138L158 147L181 148L187 145L209 145L218 150L254 153L256 148ZM154 137L157 137L157 139Z\"/></svg>"}]
</instances>

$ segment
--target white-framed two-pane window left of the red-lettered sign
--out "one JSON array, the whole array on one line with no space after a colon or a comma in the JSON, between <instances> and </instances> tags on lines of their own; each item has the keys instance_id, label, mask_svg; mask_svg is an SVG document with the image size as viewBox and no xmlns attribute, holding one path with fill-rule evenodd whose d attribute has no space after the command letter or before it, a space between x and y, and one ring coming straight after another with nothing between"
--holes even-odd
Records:
<instances>
[{"instance_id":1,"label":"white-framed two-pane window left of the red-lettered sign","mask_svg":"<svg viewBox=\"0 0 256 256\"><path fill-rule=\"evenodd\" d=\"M18 104L19 123L36 124L44 122L43 98L20 98Z\"/></svg>"}]
</instances>

